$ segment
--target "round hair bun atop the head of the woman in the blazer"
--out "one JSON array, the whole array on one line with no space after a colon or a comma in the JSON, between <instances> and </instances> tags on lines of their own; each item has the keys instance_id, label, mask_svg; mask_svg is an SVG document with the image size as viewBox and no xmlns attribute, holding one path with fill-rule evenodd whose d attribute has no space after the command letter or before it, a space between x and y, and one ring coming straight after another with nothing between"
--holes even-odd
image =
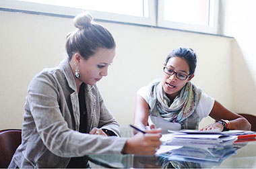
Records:
<instances>
[{"instance_id":1,"label":"round hair bun atop the head of the woman in the blazer","mask_svg":"<svg viewBox=\"0 0 256 169\"><path fill-rule=\"evenodd\" d=\"M93 17L90 13L81 13L74 18L74 25L78 29L84 29L92 25Z\"/></svg>"}]
</instances>

